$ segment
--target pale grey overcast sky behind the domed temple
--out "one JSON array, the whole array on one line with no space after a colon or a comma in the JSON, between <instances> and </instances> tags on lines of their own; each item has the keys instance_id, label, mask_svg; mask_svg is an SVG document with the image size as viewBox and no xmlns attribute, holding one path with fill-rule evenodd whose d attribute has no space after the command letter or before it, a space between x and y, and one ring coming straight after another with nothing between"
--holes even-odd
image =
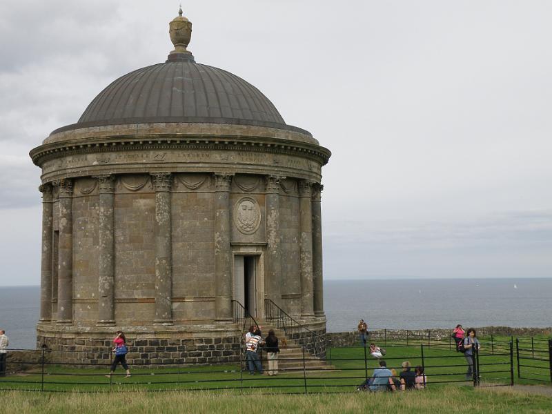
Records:
<instances>
[{"instance_id":1,"label":"pale grey overcast sky behind the domed temple","mask_svg":"<svg viewBox=\"0 0 552 414\"><path fill-rule=\"evenodd\" d=\"M2 0L0 285L40 283L28 157L172 49L178 1ZM194 1L196 61L333 155L326 279L552 276L552 2Z\"/></svg>"}]
</instances>

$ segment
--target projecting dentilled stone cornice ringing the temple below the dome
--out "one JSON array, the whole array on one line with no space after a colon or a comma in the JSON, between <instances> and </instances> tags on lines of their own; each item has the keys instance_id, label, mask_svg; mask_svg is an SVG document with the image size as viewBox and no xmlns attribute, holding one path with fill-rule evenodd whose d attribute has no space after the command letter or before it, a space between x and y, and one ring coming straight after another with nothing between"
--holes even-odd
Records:
<instances>
[{"instance_id":1,"label":"projecting dentilled stone cornice ringing the temple below the dome","mask_svg":"<svg viewBox=\"0 0 552 414\"><path fill-rule=\"evenodd\" d=\"M84 155L101 152L129 150L233 150L246 152L266 152L270 154L295 155L311 159L324 166L331 156L330 150L315 144L265 137L244 138L204 136L183 138L179 134L110 136L101 139L87 139L85 143L61 141L45 144L30 151L32 162L41 166L50 159L70 155Z\"/></svg>"}]
</instances>

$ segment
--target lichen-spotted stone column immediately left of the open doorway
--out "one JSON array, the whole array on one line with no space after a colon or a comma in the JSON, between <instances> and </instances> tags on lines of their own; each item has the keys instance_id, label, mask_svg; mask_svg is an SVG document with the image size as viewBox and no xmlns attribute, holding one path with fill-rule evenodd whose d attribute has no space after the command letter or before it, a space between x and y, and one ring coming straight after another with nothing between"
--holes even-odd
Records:
<instances>
[{"instance_id":1,"label":"lichen-spotted stone column immediately left of the open doorway","mask_svg":"<svg viewBox=\"0 0 552 414\"><path fill-rule=\"evenodd\" d=\"M230 183L232 175L215 174L215 317L231 322L232 250L230 248Z\"/></svg>"}]
</instances>

